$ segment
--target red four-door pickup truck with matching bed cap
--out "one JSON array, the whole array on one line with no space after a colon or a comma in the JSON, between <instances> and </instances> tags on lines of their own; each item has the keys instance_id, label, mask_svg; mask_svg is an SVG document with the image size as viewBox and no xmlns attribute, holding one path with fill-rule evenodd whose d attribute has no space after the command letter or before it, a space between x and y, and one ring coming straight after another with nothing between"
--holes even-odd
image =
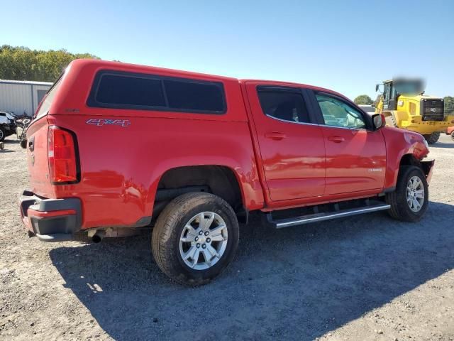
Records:
<instances>
[{"instance_id":1,"label":"red four-door pickup truck with matching bed cap","mask_svg":"<svg viewBox=\"0 0 454 341\"><path fill-rule=\"evenodd\" d=\"M101 60L67 67L23 147L31 236L153 227L157 265L189 285L232 261L251 212L275 228L378 210L415 222L433 167L423 136L331 90Z\"/></svg>"}]
</instances>

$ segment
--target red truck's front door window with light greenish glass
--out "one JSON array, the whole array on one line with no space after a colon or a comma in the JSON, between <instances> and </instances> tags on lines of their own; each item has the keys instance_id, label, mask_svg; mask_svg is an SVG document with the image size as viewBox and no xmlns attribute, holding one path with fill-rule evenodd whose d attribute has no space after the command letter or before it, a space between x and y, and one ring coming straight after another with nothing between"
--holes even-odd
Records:
<instances>
[{"instance_id":1,"label":"red truck's front door window with light greenish glass","mask_svg":"<svg viewBox=\"0 0 454 341\"><path fill-rule=\"evenodd\" d=\"M351 129L366 127L362 114L350 104L328 94L316 94L316 99L327 126Z\"/></svg>"}]
</instances>

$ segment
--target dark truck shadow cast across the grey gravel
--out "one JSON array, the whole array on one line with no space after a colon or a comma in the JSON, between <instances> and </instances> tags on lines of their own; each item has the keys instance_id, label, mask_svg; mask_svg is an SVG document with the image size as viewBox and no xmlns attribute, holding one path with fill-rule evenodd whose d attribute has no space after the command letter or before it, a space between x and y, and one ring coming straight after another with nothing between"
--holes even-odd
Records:
<instances>
[{"instance_id":1,"label":"dark truck shadow cast across the grey gravel","mask_svg":"<svg viewBox=\"0 0 454 341\"><path fill-rule=\"evenodd\" d=\"M312 340L454 268L452 205L416 224L383 213L272 230L255 222L213 283L170 282L150 238L50 251L79 300L115 340Z\"/></svg>"}]
</instances>

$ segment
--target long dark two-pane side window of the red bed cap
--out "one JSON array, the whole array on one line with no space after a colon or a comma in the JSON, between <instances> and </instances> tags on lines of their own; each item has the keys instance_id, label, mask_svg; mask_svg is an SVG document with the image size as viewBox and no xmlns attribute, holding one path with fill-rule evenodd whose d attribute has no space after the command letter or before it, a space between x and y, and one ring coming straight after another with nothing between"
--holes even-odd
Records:
<instances>
[{"instance_id":1,"label":"long dark two-pane side window of the red bed cap","mask_svg":"<svg viewBox=\"0 0 454 341\"><path fill-rule=\"evenodd\" d=\"M89 107L223 114L221 82L101 71L87 101Z\"/></svg>"}]
</instances>

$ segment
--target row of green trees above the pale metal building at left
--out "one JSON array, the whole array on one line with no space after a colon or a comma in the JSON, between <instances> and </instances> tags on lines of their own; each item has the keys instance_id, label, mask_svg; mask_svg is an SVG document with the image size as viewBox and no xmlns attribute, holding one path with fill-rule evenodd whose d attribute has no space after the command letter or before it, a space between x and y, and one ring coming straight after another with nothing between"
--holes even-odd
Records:
<instances>
[{"instance_id":1,"label":"row of green trees above the pale metal building at left","mask_svg":"<svg viewBox=\"0 0 454 341\"><path fill-rule=\"evenodd\" d=\"M0 79L54 82L72 60L79 58L99 59L89 53L3 45L0 47Z\"/></svg>"}]
</instances>

